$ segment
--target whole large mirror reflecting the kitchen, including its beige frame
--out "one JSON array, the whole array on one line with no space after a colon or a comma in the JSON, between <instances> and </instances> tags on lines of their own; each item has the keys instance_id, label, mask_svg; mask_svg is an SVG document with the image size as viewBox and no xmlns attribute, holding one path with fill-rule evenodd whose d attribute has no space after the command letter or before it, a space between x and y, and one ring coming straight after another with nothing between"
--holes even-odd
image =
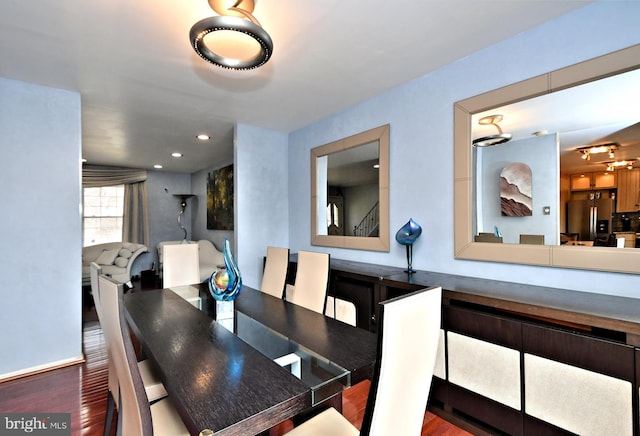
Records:
<instances>
[{"instance_id":1,"label":"whole large mirror reflecting the kitchen, including its beige frame","mask_svg":"<svg viewBox=\"0 0 640 436\"><path fill-rule=\"evenodd\" d=\"M639 56L455 104L456 258L640 273Z\"/></svg>"}]
</instances>

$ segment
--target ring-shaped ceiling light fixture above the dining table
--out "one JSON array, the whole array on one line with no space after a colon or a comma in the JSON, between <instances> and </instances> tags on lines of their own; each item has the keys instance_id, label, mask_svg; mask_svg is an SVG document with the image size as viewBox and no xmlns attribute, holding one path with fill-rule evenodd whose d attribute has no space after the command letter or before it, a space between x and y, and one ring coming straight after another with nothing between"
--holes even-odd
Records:
<instances>
[{"instance_id":1,"label":"ring-shaped ceiling light fixture above the dining table","mask_svg":"<svg viewBox=\"0 0 640 436\"><path fill-rule=\"evenodd\" d=\"M191 46L202 59L223 68L250 70L264 65L273 42L251 15L254 0L208 0L220 16L198 21L189 32Z\"/></svg>"}]
</instances>

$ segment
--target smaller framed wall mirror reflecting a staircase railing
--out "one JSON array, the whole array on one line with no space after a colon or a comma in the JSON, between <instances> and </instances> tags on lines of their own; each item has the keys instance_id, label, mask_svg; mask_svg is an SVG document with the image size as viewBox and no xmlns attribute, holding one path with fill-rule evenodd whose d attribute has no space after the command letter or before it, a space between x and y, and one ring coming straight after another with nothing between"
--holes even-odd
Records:
<instances>
[{"instance_id":1,"label":"smaller framed wall mirror reflecting a staircase railing","mask_svg":"<svg viewBox=\"0 0 640 436\"><path fill-rule=\"evenodd\" d=\"M389 251L389 125L311 150L311 244Z\"/></svg>"}]
</instances>

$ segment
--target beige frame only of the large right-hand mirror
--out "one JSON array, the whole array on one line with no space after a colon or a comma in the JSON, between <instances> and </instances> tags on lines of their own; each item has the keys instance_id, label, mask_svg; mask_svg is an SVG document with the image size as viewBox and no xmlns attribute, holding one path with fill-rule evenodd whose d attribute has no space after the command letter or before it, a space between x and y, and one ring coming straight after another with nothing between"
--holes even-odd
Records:
<instances>
[{"instance_id":1,"label":"beige frame only of the large right-hand mirror","mask_svg":"<svg viewBox=\"0 0 640 436\"><path fill-rule=\"evenodd\" d=\"M474 114L640 68L640 45L581 62L454 104L454 249L456 259L640 273L640 248L474 242L477 234Z\"/></svg>"}]
</instances>

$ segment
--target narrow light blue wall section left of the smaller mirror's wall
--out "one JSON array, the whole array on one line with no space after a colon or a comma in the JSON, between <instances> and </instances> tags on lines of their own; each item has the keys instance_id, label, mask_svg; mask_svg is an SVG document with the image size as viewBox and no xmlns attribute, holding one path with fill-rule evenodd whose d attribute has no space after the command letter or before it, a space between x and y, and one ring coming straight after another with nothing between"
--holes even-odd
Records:
<instances>
[{"instance_id":1,"label":"narrow light blue wall section left of the smaller mirror's wall","mask_svg":"<svg viewBox=\"0 0 640 436\"><path fill-rule=\"evenodd\" d=\"M234 143L234 256L244 284L259 288L267 246L289 246L287 135L240 124ZM309 181L304 185L307 197L296 206L308 213Z\"/></svg>"}]
</instances>

